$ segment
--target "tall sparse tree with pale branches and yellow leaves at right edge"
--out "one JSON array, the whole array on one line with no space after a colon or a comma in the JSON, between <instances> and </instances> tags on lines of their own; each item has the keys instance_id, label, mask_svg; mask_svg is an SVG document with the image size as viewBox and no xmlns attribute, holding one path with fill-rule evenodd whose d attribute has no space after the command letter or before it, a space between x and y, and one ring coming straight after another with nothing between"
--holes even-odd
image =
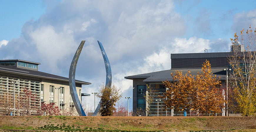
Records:
<instances>
[{"instance_id":1,"label":"tall sparse tree with pale branches and yellow leaves at right edge","mask_svg":"<svg viewBox=\"0 0 256 132\"><path fill-rule=\"evenodd\" d=\"M246 46L245 51L234 50L233 55L229 58L232 67L230 73L231 88L237 102L237 109L242 116L252 116L256 112L256 29L253 31L251 26L244 33L241 30L241 45ZM246 35L246 36L245 36ZM230 38L232 44L238 43L239 36L237 33L234 39ZM246 37L247 43L244 42Z\"/></svg>"}]
</instances>

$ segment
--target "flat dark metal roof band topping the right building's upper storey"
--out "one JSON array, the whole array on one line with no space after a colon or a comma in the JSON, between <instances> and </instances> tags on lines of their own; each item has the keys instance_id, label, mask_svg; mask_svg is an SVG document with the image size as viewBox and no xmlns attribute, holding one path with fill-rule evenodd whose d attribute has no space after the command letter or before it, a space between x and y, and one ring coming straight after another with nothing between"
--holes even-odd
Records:
<instances>
[{"instance_id":1,"label":"flat dark metal roof band topping the right building's upper storey","mask_svg":"<svg viewBox=\"0 0 256 132\"><path fill-rule=\"evenodd\" d=\"M171 54L171 59L187 59L187 58L226 58L231 56L232 52L217 52L217 53L180 53Z\"/></svg>"}]
</instances>

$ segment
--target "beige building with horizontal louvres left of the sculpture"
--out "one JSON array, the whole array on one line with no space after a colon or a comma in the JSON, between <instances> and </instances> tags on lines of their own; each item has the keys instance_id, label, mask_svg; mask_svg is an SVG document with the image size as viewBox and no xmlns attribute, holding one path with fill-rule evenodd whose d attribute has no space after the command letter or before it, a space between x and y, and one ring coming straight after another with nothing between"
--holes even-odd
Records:
<instances>
[{"instance_id":1,"label":"beige building with horizontal louvres left of the sculpture","mask_svg":"<svg viewBox=\"0 0 256 132\"><path fill-rule=\"evenodd\" d=\"M27 89L34 96L28 102L29 107L33 108L29 111L30 114L36 115L41 104L46 103L59 106L63 114L70 111L76 115L69 90L69 78L40 72L38 65L40 63L25 60L0 60L0 98L4 100L0 106L1 114L9 115L12 112L14 115L22 115L24 110L20 108L21 97L24 97L24 90ZM91 83L79 80L75 82L81 101L82 85Z\"/></svg>"}]
</instances>

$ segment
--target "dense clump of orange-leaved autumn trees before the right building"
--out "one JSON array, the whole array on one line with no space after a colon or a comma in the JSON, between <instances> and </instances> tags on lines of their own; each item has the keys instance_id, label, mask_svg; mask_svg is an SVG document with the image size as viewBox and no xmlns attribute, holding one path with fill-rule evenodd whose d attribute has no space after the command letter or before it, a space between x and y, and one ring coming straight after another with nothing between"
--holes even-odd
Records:
<instances>
[{"instance_id":1,"label":"dense clump of orange-leaved autumn trees before the right building","mask_svg":"<svg viewBox=\"0 0 256 132\"><path fill-rule=\"evenodd\" d=\"M212 74L209 61L206 60L202 72L198 72L197 76L192 76L190 71L185 75L176 71L172 78L173 82L163 82L169 88L162 96L163 99L167 97L165 104L168 108L174 108L175 112L184 110L189 113L193 109L205 115L221 112L224 103L219 89L221 83Z\"/></svg>"}]
</instances>

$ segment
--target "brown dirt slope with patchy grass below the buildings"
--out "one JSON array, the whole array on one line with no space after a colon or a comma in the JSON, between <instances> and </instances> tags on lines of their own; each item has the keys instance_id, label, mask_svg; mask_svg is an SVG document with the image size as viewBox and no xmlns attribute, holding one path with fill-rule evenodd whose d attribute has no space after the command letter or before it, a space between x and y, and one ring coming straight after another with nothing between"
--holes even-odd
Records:
<instances>
[{"instance_id":1,"label":"brown dirt slope with patchy grass below the buildings","mask_svg":"<svg viewBox=\"0 0 256 132\"><path fill-rule=\"evenodd\" d=\"M256 131L255 117L92 117L92 116L0 116L0 130L32 129L44 126L72 126L103 130L131 131ZM251 129L251 130L248 130ZM255 129L255 130L254 130ZM40 129L39 129L40 130ZM12 131L12 130L11 130ZM29 131L29 130L26 130ZM31 130L36 131L36 130Z\"/></svg>"}]
</instances>

